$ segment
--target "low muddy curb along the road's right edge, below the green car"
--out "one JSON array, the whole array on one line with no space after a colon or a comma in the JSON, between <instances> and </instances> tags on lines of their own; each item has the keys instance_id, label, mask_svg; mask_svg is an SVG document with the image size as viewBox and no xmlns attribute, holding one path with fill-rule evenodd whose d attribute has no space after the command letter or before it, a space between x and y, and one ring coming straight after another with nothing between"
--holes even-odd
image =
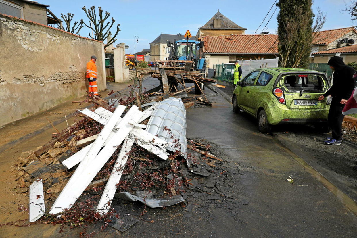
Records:
<instances>
[{"instance_id":1,"label":"low muddy curb along the road's right edge, below the green car","mask_svg":"<svg viewBox=\"0 0 357 238\"><path fill-rule=\"evenodd\" d=\"M282 135L273 137L283 147L291 151L291 156L309 171L318 181L322 182L348 209L357 215L357 189L341 176L329 168L323 167L316 162L316 158L301 148L294 145L294 142ZM295 155L295 156L294 156Z\"/></svg>"}]
</instances>

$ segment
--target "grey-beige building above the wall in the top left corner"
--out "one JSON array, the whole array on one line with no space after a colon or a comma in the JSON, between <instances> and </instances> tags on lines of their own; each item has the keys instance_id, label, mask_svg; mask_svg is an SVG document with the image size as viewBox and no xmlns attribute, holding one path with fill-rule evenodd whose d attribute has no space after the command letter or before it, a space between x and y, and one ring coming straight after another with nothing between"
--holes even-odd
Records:
<instances>
[{"instance_id":1,"label":"grey-beige building above the wall in the top left corner","mask_svg":"<svg viewBox=\"0 0 357 238\"><path fill-rule=\"evenodd\" d=\"M15 16L27 21L43 25L58 25L62 29L62 21L49 9L49 5L30 0L0 0L0 13ZM55 26L54 26L55 27Z\"/></svg>"}]
</instances>

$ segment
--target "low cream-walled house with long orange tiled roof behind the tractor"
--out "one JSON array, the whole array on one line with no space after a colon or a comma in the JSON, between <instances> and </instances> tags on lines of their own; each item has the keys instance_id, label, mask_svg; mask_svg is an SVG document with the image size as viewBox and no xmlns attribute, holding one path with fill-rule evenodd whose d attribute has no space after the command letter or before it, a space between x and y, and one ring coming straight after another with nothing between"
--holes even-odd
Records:
<instances>
[{"instance_id":1,"label":"low cream-walled house with long orange tiled roof behind the tractor","mask_svg":"<svg viewBox=\"0 0 357 238\"><path fill-rule=\"evenodd\" d=\"M235 60L273 59L278 56L277 35L202 36L206 67Z\"/></svg>"}]
</instances>

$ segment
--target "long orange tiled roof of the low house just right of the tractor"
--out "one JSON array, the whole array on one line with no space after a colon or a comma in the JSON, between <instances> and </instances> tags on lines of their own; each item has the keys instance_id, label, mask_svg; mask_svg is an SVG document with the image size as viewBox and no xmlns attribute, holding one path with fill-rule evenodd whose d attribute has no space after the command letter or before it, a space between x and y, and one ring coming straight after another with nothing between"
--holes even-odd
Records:
<instances>
[{"instance_id":1,"label":"long orange tiled roof of the low house just right of the tractor","mask_svg":"<svg viewBox=\"0 0 357 238\"><path fill-rule=\"evenodd\" d=\"M226 54L278 54L277 35L203 36L203 52Z\"/></svg>"}]
</instances>

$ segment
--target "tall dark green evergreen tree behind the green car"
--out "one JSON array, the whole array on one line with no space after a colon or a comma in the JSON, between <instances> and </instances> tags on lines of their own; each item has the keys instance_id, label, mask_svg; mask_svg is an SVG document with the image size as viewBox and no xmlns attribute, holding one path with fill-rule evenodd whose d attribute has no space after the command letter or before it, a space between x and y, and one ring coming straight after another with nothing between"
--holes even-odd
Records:
<instances>
[{"instance_id":1,"label":"tall dark green evergreen tree behind the green car","mask_svg":"<svg viewBox=\"0 0 357 238\"><path fill-rule=\"evenodd\" d=\"M306 67L311 47L326 21L326 14L318 10L315 17L311 0L280 0L278 21L278 51L282 67ZM314 23L315 18L315 23ZM322 40L322 39L319 39Z\"/></svg>"}]
</instances>

